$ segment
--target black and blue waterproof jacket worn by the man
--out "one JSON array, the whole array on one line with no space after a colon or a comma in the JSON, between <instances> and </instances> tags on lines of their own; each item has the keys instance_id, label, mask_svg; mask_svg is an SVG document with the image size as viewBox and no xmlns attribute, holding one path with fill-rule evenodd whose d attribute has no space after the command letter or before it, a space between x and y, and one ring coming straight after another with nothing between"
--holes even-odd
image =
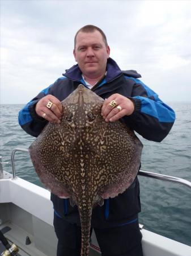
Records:
<instances>
[{"instance_id":1,"label":"black and blue waterproof jacket worn by the man","mask_svg":"<svg viewBox=\"0 0 191 256\"><path fill-rule=\"evenodd\" d=\"M175 121L175 112L165 105L148 86L143 84L136 71L121 71L117 63L109 58L107 74L92 90L101 98L108 98L114 93L129 97L135 105L133 114L125 116L122 121L142 137L155 142L162 141ZM37 137L47 121L35 112L37 102L48 94L58 100L64 100L79 84L86 86L82 79L82 72L78 64L63 74L54 84L42 90L19 112L19 124L30 135ZM54 212L58 217L65 218L71 223L80 225L77 207L71 207L69 199L60 199L51 195ZM125 225L137 220L141 211L139 198L139 181L134 183L122 194L113 199L105 200L103 207L97 206L92 212L92 226L108 228L110 226Z\"/></svg>"}]
</instances>

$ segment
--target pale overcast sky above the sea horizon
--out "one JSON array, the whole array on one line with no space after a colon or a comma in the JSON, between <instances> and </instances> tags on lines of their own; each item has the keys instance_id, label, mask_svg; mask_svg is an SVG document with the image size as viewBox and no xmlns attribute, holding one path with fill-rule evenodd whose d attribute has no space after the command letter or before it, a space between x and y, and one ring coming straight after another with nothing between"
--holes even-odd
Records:
<instances>
[{"instance_id":1,"label":"pale overcast sky above the sea horizon","mask_svg":"<svg viewBox=\"0 0 191 256\"><path fill-rule=\"evenodd\" d=\"M74 65L86 24L163 101L191 100L191 1L1 0L1 104L27 103Z\"/></svg>"}]
</instances>

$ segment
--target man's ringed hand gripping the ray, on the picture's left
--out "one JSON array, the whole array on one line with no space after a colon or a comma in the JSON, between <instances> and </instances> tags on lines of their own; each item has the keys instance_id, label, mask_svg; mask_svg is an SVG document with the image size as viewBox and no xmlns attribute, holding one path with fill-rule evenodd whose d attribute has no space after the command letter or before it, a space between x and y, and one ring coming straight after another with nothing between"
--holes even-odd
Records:
<instances>
[{"instance_id":1,"label":"man's ringed hand gripping the ray, on the picture's left","mask_svg":"<svg viewBox=\"0 0 191 256\"><path fill-rule=\"evenodd\" d=\"M49 101L52 102L50 109L46 106ZM41 98L41 100L36 104L35 111L37 115L44 117L50 123L61 122L60 119L62 117L62 105L60 100L58 100L53 95L49 94Z\"/></svg>"}]
</instances>

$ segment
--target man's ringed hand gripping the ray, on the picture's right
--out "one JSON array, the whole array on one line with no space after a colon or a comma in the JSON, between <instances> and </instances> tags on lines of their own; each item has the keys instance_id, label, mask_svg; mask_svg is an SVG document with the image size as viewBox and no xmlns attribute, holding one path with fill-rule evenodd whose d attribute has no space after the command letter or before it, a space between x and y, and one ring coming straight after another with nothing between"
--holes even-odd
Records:
<instances>
[{"instance_id":1,"label":"man's ringed hand gripping the ray, on the picture's right","mask_svg":"<svg viewBox=\"0 0 191 256\"><path fill-rule=\"evenodd\" d=\"M109 102L113 100L116 101L118 108L121 110L117 109L117 106L115 108L109 106ZM109 98L107 98L107 100L104 101L104 104L101 109L101 115L103 116L106 122L114 122L124 117L124 115L131 115L133 112L133 101L118 93L115 93L111 95Z\"/></svg>"}]
</instances>

